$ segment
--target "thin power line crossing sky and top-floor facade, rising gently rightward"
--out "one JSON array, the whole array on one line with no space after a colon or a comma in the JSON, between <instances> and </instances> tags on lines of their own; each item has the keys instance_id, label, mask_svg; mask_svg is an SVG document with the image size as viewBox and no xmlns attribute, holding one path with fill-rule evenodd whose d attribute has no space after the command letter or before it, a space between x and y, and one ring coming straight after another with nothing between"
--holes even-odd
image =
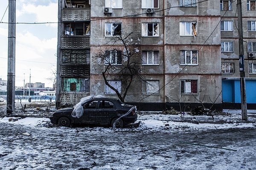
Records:
<instances>
[{"instance_id":1,"label":"thin power line crossing sky and top-floor facade, rising gently rightward","mask_svg":"<svg viewBox=\"0 0 256 170\"><path fill-rule=\"evenodd\" d=\"M196 4L199 4L199 3L204 3L204 2L207 2L207 1L209 1L209 0L203 0L203 1L200 1L200 2L197 2L197 3L191 3L191 4L188 4L188 5L184 5L184 6L171 6L169 8L161 9L161 10L158 10L158 11L155 11L155 12L165 11L165 10L171 9L171 8L180 8L180 7L192 6L192 5L196 5ZM143 15L143 14L147 14L147 13L126 15L126 16L122 16L122 17L107 17L107 18L88 20L88 21L91 22L91 21L109 20L109 19L117 19L117 18L125 18L125 17L136 17L136 16ZM8 24L8 22L0 22L0 23ZM62 23L62 22L41 22L41 23L39 23L39 22L38 23L36 23L36 22L34 22L34 23L21 22L21 23L11 23L11 24L53 24L53 23Z\"/></svg>"}]
</instances>

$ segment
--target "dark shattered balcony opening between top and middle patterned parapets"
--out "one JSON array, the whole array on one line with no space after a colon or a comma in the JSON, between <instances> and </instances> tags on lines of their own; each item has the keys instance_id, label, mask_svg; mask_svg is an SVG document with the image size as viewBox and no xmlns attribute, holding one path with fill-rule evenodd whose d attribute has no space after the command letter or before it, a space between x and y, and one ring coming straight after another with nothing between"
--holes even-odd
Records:
<instances>
[{"instance_id":1,"label":"dark shattered balcony opening between top and middle patterned parapets","mask_svg":"<svg viewBox=\"0 0 256 170\"><path fill-rule=\"evenodd\" d=\"M90 35L90 22L64 23L64 35Z\"/></svg>"}]
</instances>

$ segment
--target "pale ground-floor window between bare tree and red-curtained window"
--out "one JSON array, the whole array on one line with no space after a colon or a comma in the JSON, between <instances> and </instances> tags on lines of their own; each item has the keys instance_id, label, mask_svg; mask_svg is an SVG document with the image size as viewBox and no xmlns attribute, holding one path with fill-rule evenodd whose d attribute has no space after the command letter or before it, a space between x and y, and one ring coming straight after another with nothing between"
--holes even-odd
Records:
<instances>
[{"instance_id":1,"label":"pale ground-floor window between bare tree and red-curtained window","mask_svg":"<svg viewBox=\"0 0 256 170\"><path fill-rule=\"evenodd\" d=\"M143 94L159 94L159 80L143 80L142 82Z\"/></svg>"}]
</instances>

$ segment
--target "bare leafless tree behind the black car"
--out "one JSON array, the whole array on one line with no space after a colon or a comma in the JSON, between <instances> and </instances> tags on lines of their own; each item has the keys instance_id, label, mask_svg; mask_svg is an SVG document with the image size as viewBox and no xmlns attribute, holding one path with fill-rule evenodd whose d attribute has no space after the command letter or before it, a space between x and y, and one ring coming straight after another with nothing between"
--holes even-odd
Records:
<instances>
[{"instance_id":1,"label":"bare leafless tree behind the black car","mask_svg":"<svg viewBox=\"0 0 256 170\"><path fill-rule=\"evenodd\" d=\"M100 49L99 53L93 56L99 59L101 63L104 62L102 77L104 78L105 84L115 91L122 102L125 101L125 96L131 87L131 83L136 79L142 79L141 52L137 45L134 45L132 42L131 35L132 32L129 34L122 33L113 37L107 43L110 44L110 47L104 50ZM120 45L122 50L120 50ZM122 93L109 84L107 77L111 76L122 80Z\"/></svg>"}]
</instances>

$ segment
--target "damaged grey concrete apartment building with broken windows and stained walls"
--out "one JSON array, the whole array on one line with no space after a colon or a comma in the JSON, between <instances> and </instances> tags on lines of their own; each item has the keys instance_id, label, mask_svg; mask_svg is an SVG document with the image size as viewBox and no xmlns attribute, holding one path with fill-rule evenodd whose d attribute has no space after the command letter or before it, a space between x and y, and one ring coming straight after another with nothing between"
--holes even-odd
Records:
<instances>
[{"instance_id":1,"label":"damaged grey concrete apartment building with broken windows and stained walls","mask_svg":"<svg viewBox=\"0 0 256 170\"><path fill-rule=\"evenodd\" d=\"M140 56L137 61L141 79L131 82L125 102L141 110L164 110L179 104L194 107L201 103L205 106L214 103L221 108L224 80L239 77L239 70L235 69L234 76L224 72L228 70L224 67L232 67L226 63L238 64L239 55L238 47L234 46L238 45L234 23L233 32L225 30L231 25L229 21L235 22L235 3L219 23L230 3L224 0L59 0L56 105L74 105L89 95L118 98L102 76L106 63L95 56L103 52L105 61L111 61L117 68L127 63L122 42L111 43L111 40L130 34L125 43ZM245 5L243 11L247 11ZM252 29L247 43L251 52L255 47L254 12L248 12L252 18L244 18L244 27L248 20ZM226 42L232 41L237 51L224 53L223 49L230 44ZM250 61L252 64L248 65L253 71L256 64ZM108 73L106 79L120 94L125 93L125 79Z\"/></svg>"}]
</instances>

